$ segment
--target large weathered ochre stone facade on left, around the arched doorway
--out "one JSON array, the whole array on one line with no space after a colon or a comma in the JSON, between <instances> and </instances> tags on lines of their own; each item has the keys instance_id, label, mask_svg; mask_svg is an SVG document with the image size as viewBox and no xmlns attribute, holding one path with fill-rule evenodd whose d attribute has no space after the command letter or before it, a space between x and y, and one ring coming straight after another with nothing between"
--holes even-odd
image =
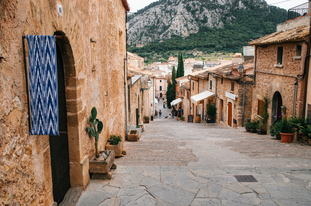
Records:
<instances>
[{"instance_id":1,"label":"large weathered ochre stone facade on left, around the arched doorway","mask_svg":"<svg viewBox=\"0 0 311 206\"><path fill-rule=\"evenodd\" d=\"M51 157L49 136L29 135L22 35L63 37L57 45L64 70L58 81L66 91L67 181L69 187L84 189L95 151L94 137L87 131L92 107L104 123L99 150L105 149L110 134L125 139L126 11L126 0L20 0L0 5L1 205L49 206L57 198L51 168L57 160Z\"/></svg>"}]
</instances>

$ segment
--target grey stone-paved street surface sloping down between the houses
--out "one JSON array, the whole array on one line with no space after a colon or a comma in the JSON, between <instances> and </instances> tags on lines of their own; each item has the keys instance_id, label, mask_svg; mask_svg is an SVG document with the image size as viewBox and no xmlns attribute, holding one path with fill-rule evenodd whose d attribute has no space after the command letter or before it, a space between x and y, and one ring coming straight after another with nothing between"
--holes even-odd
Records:
<instances>
[{"instance_id":1,"label":"grey stone-paved street surface sloping down between the houses","mask_svg":"<svg viewBox=\"0 0 311 206\"><path fill-rule=\"evenodd\" d=\"M113 179L91 180L77 205L311 205L309 145L155 119L124 149ZM234 175L258 182L240 183Z\"/></svg>"}]
</instances>

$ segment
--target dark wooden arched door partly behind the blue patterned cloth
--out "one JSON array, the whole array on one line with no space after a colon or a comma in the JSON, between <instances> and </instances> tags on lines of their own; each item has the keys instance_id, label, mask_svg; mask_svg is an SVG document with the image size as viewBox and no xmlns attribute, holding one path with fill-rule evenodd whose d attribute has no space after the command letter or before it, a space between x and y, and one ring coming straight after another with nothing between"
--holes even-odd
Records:
<instances>
[{"instance_id":1,"label":"dark wooden arched door partly behind the blue patterned cloth","mask_svg":"<svg viewBox=\"0 0 311 206\"><path fill-rule=\"evenodd\" d=\"M56 43L58 81L58 127L67 132L65 74L61 51ZM54 202L60 204L70 188L68 135L49 136Z\"/></svg>"}]
</instances>

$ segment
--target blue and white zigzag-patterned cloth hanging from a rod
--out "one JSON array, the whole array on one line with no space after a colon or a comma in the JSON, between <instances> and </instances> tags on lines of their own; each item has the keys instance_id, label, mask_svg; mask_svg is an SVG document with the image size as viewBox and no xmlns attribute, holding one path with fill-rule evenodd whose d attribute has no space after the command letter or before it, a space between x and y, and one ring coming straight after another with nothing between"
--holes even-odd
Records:
<instances>
[{"instance_id":1,"label":"blue and white zigzag-patterned cloth hanging from a rod","mask_svg":"<svg viewBox=\"0 0 311 206\"><path fill-rule=\"evenodd\" d=\"M59 135L55 36L27 35L31 135Z\"/></svg>"}]
</instances>

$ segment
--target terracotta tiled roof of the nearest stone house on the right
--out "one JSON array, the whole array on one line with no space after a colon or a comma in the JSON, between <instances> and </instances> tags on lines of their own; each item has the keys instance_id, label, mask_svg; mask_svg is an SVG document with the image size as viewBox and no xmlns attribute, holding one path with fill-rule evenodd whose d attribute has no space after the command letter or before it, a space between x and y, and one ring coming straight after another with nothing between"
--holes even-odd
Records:
<instances>
[{"instance_id":1,"label":"terracotta tiled roof of the nearest stone house on the right","mask_svg":"<svg viewBox=\"0 0 311 206\"><path fill-rule=\"evenodd\" d=\"M298 27L295 29L275 32L267 36L261 37L257 40L249 42L249 45L262 45L262 44L273 44L273 43L283 43L290 41L300 41L305 40L306 36L309 35L309 26Z\"/></svg>"}]
</instances>

